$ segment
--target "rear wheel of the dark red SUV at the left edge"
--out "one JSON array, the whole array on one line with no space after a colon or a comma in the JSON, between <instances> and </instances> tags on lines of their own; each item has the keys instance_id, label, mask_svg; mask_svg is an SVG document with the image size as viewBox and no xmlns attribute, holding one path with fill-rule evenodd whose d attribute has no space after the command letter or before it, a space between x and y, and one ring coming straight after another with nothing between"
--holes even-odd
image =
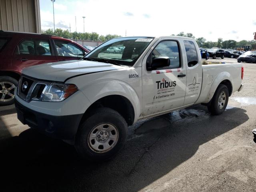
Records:
<instances>
[{"instance_id":1,"label":"rear wheel of the dark red SUV at the left edge","mask_svg":"<svg viewBox=\"0 0 256 192\"><path fill-rule=\"evenodd\" d=\"M16 87L18 81L9 76L0 76L0 106L11 105L14 103L13 95L15 87L13 88L12 85Z\"/></svg>"}]
</instances>

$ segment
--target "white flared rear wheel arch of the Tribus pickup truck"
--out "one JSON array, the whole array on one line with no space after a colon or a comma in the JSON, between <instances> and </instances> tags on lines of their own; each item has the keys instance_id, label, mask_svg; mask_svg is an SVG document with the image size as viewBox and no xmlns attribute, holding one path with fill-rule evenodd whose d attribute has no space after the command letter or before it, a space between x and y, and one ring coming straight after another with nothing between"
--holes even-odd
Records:
<instances>
[{"instance_id":1,"label":"white flared rear wheel arch of the Tribus pickup truck","mask_svg":"<svg viewBox=\"0 0 256 192\"><path fill-rule=\"evenodd\" d=\"M229 72L221 72L220 74L218 74L218 76L214 79L213 83L212 83L212 86L208 92L208 96L207 96L207 99L206 99L206 102L205 103L208 103L210 102L210 100L212 99L216 89L218 88L218 86L220 85L220 83L224 80L229 80L231 85L233 86L233 78L232 76L230 75Z\"/></svg>"}]
</instances>

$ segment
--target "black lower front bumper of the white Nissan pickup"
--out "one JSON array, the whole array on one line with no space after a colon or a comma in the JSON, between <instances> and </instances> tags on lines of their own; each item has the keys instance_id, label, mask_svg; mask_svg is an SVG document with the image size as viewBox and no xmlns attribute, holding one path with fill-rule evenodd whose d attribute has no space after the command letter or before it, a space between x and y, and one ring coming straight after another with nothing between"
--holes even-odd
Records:
<instances>
[{"instance_id":1,"label":"black lower front bumper of the white Nissan pickup","mask_svg":"<svg viewBox=\"0 0 256 192\"><path fill-rule=\"evenodd\" d=\"M25 107L15 99L15 107L20 122L27 124L31 128L36 128L53 138L58 138L74 144L76 132L83 114L53 116L37 112Z\"/></svg>"}]
</instances>

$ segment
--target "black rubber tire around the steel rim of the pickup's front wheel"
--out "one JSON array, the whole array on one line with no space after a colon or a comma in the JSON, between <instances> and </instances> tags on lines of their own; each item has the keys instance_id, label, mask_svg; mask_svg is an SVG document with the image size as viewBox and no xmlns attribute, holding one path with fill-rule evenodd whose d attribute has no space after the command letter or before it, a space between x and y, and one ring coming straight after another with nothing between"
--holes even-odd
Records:
<instances>
[{"instance_id":1,"label":"black rubber tire around the steel rim of the pickup's front wheel","mask_svg":"<svg viewBox=\"0 0 256 192\"><path fill-rule=\"evenodd\" d=\"M103 124L109 124L110 126L114 126L117 130L117 140L112 148L106 150L105 152L95 151L93 148L93 140L94 144L100 144L101 138L98 137L101 134L101 130L97 130L97 127L101 125L104 129ZM94 132L92 132L94 130ZM96 131L96 132L95 132ZM104 130L103 130L104 131ZM90 140L90 135L95 134L95 139ZM106 139L108 145L111 142L110 134L109 137ZM103 135L102 135L103 136ZM79 127L78 132L76 134L76 144L75 148L82 156L90 161L104 161L112 158L124 147L128 136L128 127L127 123L124 118L115 110L110 108L98 108L93 112L93 114L87 118ZM103 142L103 141L101 141ZM113 142L114 143L114 142ZM112 144L113 144L112 143ZM103 147L104 144L102 144ZM98 146L100 150L100 146Z\"/></svg>"}]
</instances>

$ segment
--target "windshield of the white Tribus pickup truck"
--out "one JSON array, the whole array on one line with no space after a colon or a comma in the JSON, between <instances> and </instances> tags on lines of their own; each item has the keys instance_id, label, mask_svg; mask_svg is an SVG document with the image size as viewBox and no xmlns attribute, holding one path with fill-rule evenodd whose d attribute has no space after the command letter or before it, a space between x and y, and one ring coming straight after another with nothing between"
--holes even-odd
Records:
<instances>
[{"instance_id":1,"label":"windshield of the white Tribus pickup truck","mask_svg":"<svg viewBox=\"0 0 256 192\"><path fill-rule=\"evenodd\" d=\"M114 38L101 44L82 59L132 66L153 39L152 37Z\"/></svg>"}]
</instances>

